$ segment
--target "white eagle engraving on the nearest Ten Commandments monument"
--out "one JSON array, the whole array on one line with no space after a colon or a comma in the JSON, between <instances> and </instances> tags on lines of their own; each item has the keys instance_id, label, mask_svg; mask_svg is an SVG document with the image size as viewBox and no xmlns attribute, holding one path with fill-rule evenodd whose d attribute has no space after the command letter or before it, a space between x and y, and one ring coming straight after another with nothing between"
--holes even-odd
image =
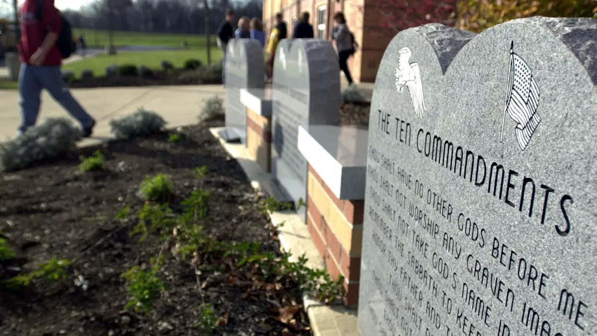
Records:
<instances>
[{"instance_id":1,"label":"white eagle engraving on the nearest Ten Commandments monument","mask_svg":"<svg viewBox=\"0 0 597 336\"><path fill-rule=\"evenodd\" d=\"M408 63L411 53L407 47L398 50L400 56L398 57L398 68L396 68L396 90L401 93L404 86L408 88L411 100L413 102L414 112L419 118L427 111L425 108L425 101L423 100L423 83L421 83L421 74L418 71L418 63Z\"/></svg>"}]
</instances>

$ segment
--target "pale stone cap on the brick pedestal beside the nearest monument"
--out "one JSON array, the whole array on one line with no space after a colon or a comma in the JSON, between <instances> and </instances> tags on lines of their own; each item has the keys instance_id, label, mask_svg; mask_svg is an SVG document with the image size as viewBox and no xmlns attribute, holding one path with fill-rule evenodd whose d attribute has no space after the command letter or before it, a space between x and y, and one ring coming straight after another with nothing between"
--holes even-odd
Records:
<instances>
[{"instance_id":1,"label":"pale stone cap on the brick pedestal beside the nearest monument","mask_svg":"<svg viewBox=\"0 0 597 336\"><path fill-rule=\"evenodd\" d=\"M367 139L356 126L298 126L298 151L340 200L365 199Z\"/></svg>"}]
</instances>

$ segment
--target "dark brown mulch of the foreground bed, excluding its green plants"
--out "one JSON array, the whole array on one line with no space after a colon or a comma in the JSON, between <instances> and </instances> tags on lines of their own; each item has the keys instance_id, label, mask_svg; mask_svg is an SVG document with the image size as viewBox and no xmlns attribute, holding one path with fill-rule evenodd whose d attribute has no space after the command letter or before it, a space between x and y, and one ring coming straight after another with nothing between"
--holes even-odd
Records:
<instances>
[{"instance_id":1,"label":"dark brown mulch of the foreground bed, excluding its green plants","mask_svg":"<svg viewBox=\"0 0 597 336\"><path fill-rule=\"evenodd\" d=\"M194 326L201 306L195 270L173 258L170 249L164 251L167 258L160 274L167 291L152 311L145 315L123 310L127 289L121 274L147 265L158 255L161 242L153 236L139 242L138 236L129 234L136 223L115 216L126 205L133 212L143 207L136 193L146 175L166 173L176 184L172 204L180 204L194 188L210 191L210 237L260 242L264 251L281 255L267 215L250 210L259 196L236 160L208 131L221 124L185 127L180 131L183 142L177 145L167 142L167 134L110 142L79 149L73 157L4 173L0 230L19 258L0 263L0 279L16 275L14 267L35 270L53 255L75 262L67 279L58 282L36 282L23 292L0 285L0 335L199 335ZM78 156L88 157L96 149L106 155L109 169L80 173ZM209 173L197 179L193 168L204 165ZM87 291L75 285L78 274L88 281ZM305 326L301 331L282 334L286 325L275 319L276 306L284 300L300 307L296 288L282 289L282 295L279 290L272 295L257 289L247 295L250 289L230 282L226 272L206 271L200 277L201 282L211 279L204 283L205 300L227 320L217 334L311 334L302 309L294 316Z\"/></svg>"}]
</instances>

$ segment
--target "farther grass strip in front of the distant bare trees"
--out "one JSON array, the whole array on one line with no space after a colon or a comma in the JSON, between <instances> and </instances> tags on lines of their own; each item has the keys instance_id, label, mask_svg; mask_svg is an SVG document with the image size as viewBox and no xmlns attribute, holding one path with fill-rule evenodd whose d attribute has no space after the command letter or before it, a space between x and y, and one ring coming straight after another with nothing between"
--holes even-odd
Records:
<instances>
[{"instance_id":1,"label":"farther grass strip in front of the distant bare trees","mask_svg":"<svg viewBox=\"0 0 597 336\"><path fill-rule=\"evenodd\" d=\"M87 45L105 46L109 45L107 30L73 28L73 34L83 34ZM159 45L161 47L180 47L186 41L189 49L204 50L207 45L205 35L196 34L168 34L168 33L140 33L140 32L114 32L114 44L121 45ZM211 47L217 50L216 36L211 36Z\"/></svg>"}]
</instances>

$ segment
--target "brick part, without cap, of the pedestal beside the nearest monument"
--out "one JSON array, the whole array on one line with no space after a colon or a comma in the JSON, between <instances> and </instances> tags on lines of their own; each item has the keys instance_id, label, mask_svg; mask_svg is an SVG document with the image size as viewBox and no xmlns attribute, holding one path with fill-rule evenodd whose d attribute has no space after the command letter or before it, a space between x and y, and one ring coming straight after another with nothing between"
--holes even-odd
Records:
<instances>
[{"instance_id":1,"label":"brick part, without cap, of the pedestal beside the nearest monument","mask_svg":"<svg viewBox=\"0 0 597 336\"><path fill-rule=\"evenodd\" d=\"M309 164L307 229L333 279L344 276L346 306L358 303L364 200L340 200Z\"/></svg>"}]
</instances>

